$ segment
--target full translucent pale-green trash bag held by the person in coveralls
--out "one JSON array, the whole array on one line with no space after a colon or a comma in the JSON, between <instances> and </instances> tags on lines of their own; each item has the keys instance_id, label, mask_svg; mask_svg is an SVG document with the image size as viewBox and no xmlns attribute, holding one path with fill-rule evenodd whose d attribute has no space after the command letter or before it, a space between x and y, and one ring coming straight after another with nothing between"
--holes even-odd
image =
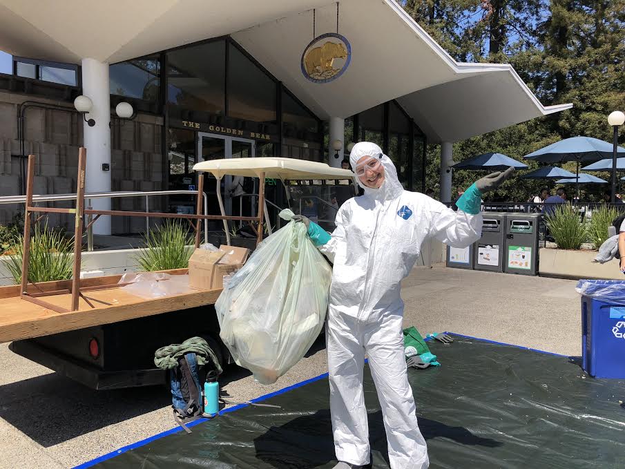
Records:
<instances>
[{"instance_id":1,"label":"full translucent pale-green trash bag held by the person in coveralls","mask_svg":"<svg viewBox=\"0 0 625 469\"><path fill-rule=\"evenodd\" d=\"M323 327L331 276L303 223L263 241L215 303L220 337L236 363L271 384L300 361Z\"/></svg>"}]
</instances>

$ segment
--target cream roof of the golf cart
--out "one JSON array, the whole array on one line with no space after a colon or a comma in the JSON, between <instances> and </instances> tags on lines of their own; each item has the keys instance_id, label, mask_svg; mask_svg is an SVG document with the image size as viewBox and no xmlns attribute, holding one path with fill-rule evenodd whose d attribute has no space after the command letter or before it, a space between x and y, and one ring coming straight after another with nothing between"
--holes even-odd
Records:
<instances>
[{"instance_id":1,"label":"cream roof of the golf cart","mask_svg":"<svg viewBox=\"0 0 625 469\"><path fill-rule=\"evenodd\" d=\"M265 173L265 178L282 180L353 179L355 177L349 169L333 168L325 163L314 161L280 157L209 160L195 164L193 171L211 173L218 179L224 175L258 178L260 173Z\"/></svg>"}]
</instances>

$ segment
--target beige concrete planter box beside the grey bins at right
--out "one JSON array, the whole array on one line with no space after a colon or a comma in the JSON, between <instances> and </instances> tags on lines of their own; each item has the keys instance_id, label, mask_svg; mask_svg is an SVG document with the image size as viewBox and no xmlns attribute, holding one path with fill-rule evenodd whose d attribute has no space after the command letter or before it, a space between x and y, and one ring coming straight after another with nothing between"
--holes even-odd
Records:
<instances>
[{"instance_id":1,"label":"beige concrete planter box beside the grey bins at right","mask_svg":"<svg viewBox=\"0 0 625 469\"><path fill-rule=\"evenodd\" d=\"M601 280L625 280L619 270L619 262L610 260L605 264L593 262L597 251L565 251L564 249L539 250L539 275L561 278L597 278Z\"/></svg>"}]
</instances>

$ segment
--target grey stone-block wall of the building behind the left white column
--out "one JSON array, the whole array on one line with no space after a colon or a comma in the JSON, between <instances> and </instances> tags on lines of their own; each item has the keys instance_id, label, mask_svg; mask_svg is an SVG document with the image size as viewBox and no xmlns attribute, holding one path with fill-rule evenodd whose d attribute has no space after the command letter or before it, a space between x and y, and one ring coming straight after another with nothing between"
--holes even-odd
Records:
<instances>
[{"instance_id":1,"label":"grey stone-block wall of the building behind the left white column","mask_svg":"<svg viewBox=\"0 0 625 469\"><path fill-rule=\"evenodd\" d=\"M70 112L56 109L27 108L24 152L37 156L35 194L63 194L76 191L78 148L82 143L83 120L71 103L54 102L39 97L0 91L0 195L20 195L21 175L26 161L19 157L17 106L25 101L65 106ZM162 157L162 118L139 115L133 121L112 119L111 178L113 191L160 191L164 189ZM47 204L70 207L69 202ZM144 210L144 198L115 199L113 208ZM151 211L164 209L164 198L150 200ZM0 204L0 224L11 221L23 207ZM156 220L153 220L156 222ZM73 226L73 217L50 214L49 226ZM113 218L113 233L145 231L144 218Z\"/></svg>"}]
</instances>

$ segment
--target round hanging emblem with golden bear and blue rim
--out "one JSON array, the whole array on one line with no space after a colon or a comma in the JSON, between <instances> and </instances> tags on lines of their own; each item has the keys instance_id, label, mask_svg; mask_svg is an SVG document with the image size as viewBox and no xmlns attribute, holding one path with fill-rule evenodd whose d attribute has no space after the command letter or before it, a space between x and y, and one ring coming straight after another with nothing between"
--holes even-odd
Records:
<instances>
[{"instance_id":1,"label":"round hanging emblem with golden bear and blue rim","mask_svg":"<svg viewBox=\"0 0 625 469\"><path fill-rule=\"evenodd\" d=\"M328 83L343 75L352 59L345 37L327 32L313 39L302 54L302 73L314 83Z\"/></svg>"}]
</instances>

